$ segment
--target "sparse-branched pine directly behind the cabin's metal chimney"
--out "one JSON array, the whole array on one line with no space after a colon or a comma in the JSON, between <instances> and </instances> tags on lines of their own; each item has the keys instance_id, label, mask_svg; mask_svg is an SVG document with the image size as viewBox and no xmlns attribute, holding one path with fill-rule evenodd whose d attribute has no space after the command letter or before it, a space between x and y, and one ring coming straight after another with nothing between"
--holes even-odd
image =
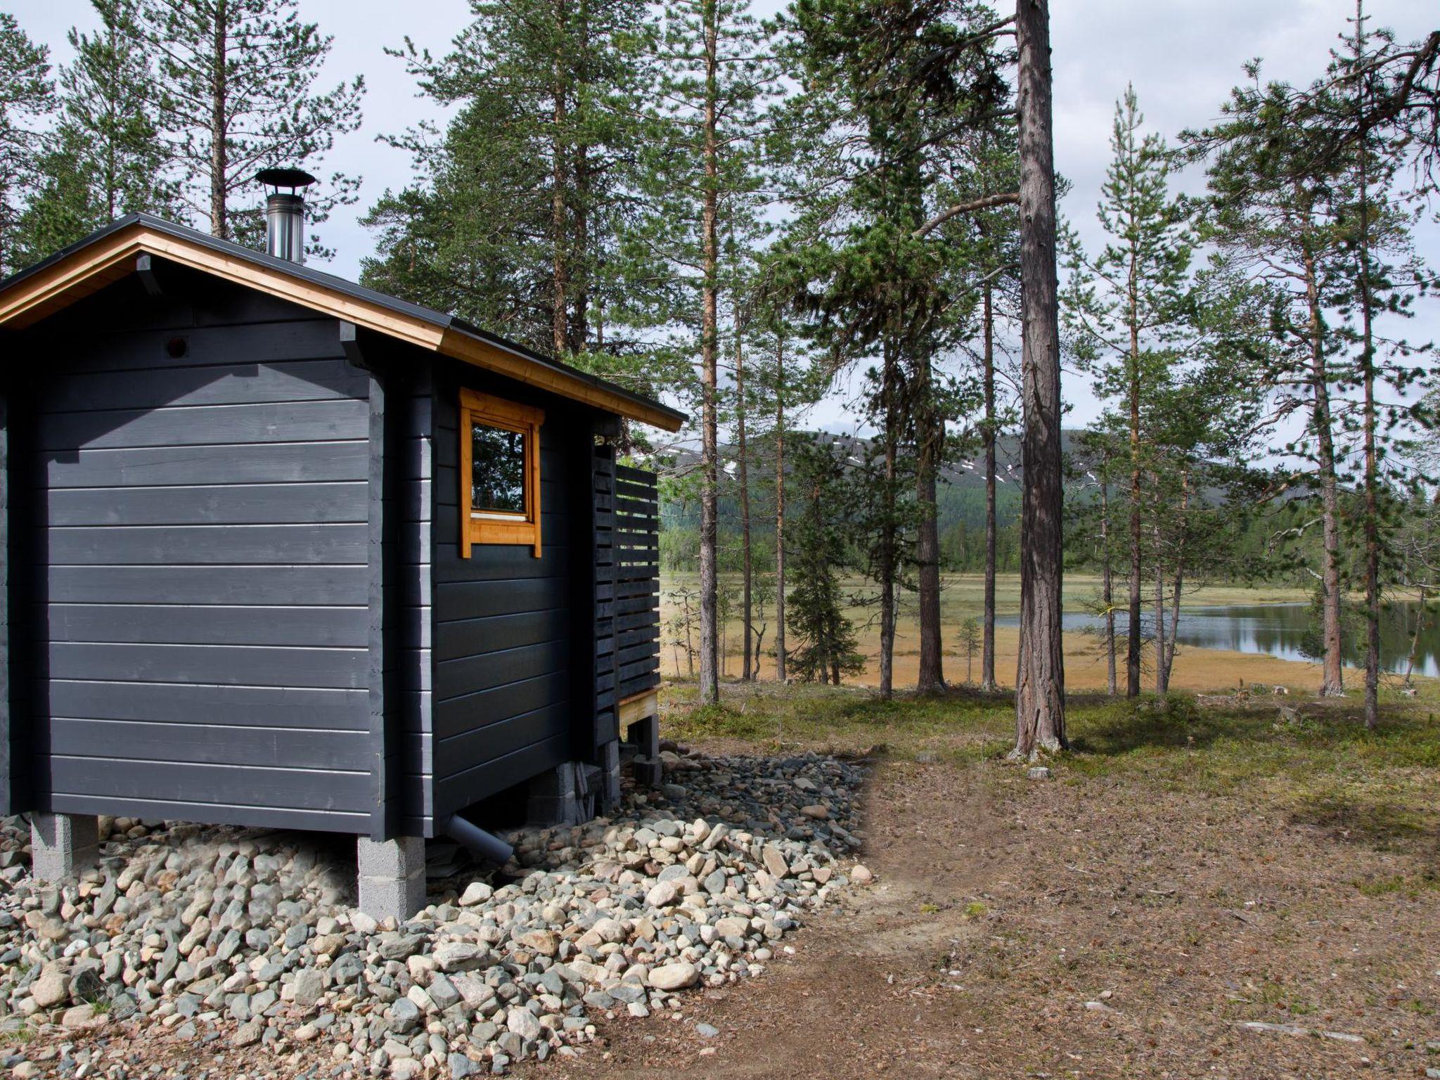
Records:
<instances>
[{"instance_id":1,"label":"sparse-branched pine directly behind the cabin's metal chimney","mask_svg":"<svg viewBox=\"0 0 1440 1080\"><path fill-rule=\"evenodd\" d=\"M331 39L301 22L298 0L140 0L134 17L156 55L160 128L181 203L213 235L256 243L264 216L238 206L239 196L255 190L261 168L315 168L336 135L360 127L363 76L315 89ZM307 194L310 220L354 202L357 187L333 173Z\"/></svg>"}]
</instances>

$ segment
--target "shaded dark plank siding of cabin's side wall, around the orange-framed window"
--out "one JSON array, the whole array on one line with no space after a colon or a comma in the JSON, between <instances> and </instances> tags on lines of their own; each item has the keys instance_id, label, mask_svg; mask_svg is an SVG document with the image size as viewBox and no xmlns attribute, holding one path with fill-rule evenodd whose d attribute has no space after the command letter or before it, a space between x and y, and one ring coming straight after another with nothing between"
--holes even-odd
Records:
<instances>
[{"instance_id":1,"label":"shaded dark plank siding of cabin's side wall, around the orange-framed window","mask_svg":"<svg viewBox=\"0 0 1440 1080\"><path fill-rule=\"evenodd\" d=\"M433 802L436 821L572 756L576 448L590 413L448 363L435 367ZM475 544L459 556L459 386L546 410L540 429L541 556ZM586 615L588 618L588 615Z\"/></svg>"}]
</instances>

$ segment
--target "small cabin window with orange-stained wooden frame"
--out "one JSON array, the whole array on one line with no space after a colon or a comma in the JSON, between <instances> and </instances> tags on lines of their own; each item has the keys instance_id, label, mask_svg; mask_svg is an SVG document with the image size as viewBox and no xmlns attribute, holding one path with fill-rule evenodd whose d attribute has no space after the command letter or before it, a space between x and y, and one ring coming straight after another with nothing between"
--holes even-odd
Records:
<instances>
[{"instance_id":1,"label":"small cabin window with orange-stained wooden frame","mask_svg":"<svg viewBox=\"0 0 1440 1080\"><path fill-rule=\"evenodd\" d=\"M528 544L540 557L540 425L544 412L459 392L459 553L472 544Z\"/></svg>"}]
</instances>

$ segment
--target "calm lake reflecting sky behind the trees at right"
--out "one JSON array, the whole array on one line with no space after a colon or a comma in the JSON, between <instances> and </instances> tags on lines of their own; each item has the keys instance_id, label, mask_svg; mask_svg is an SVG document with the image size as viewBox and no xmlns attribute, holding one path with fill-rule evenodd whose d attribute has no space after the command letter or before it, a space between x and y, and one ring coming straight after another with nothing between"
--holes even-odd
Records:
<instances>
[{"instance_id":1,"label":"calm lake reflecting sky behind the trees at right","mask_svg":"<svg viewBox=\"0 0 1440 1080\"><path fill-rule=\"evenodd\" d=\"M1387 671L1404 672L1410 658L1411 635L1416 629L1414 602L1390 603L1380 619L1380 661ZM1214 608L1181 608L1179 642L1208 649L1231 649L1234 652L1260 652L1280 660L1309 661L1300 651L1300 644L1310 628L1309 603L1227 603ZM1017 625L1015 616L996 619L998 625ZM1080 631L1099 628L1102 621L1087 612L1067 611L1064 628ZM1128 613L1115 616L1115 632L1125 635L1129 625ZM1149 634L1152 616L1142 616L1142 626ZM1169 629L1169 618L1165 621ZM1364 662L1364 639L1346 642L1345 661ZM1123 655L1123 648L1122 648ZM1440 611L1428 605L1426 628L1420 632L1416 649L1416 674L1440 677Z\"/></svg>"}]
</instances>

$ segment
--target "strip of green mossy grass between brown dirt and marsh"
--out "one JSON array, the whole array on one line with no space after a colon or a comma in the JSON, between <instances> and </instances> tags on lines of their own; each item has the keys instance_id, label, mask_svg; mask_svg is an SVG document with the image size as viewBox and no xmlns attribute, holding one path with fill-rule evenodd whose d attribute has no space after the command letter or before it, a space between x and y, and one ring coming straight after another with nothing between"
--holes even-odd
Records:
<instances>
[{"instance_id":1,"label":"strip of green mossy grass between brown dirt and marsh","mask_svg":"<svg viewBox=\"0 0 1440 1080\"><path fill-rule=\"evenodd\" d=\"M1344 841L1423 844L1440 854L1434 694L1431 685L1418 703L1390 704L1374 732L1352 701L1292 697L1282 711L1266 698L1201 704L1189 694L1138 701L1074 696L1067 706L1071 752L1051 765L1061 782L1125 775L1172 791L1259 795L1292 822ZM1002 759L1014 739L1008 696L881 701L860 688L762 683L730 684L723 700L697 708L693 687L671 687L665 736L740 742L763 753L818 749L960 765Z\"/></svg>"}]
</instances>

